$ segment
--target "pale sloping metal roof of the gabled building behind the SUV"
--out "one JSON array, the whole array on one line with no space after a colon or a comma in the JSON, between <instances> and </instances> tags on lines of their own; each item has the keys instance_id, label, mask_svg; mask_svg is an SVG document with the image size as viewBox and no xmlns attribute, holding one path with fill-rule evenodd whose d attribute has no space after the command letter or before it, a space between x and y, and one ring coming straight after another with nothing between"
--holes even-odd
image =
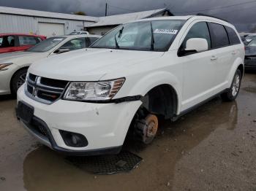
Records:
<instances>
[{"instance_id":1,"label":"pale sloping metal roof of the gabled building behind the SUV","mask_svg":"<svg viewBox=\"0 0 256 191\"><path fill-rule=\"evenodd\" d=\"M127 23L132 20L140 20L143 18L151 17L152 15L155 15L159 12L163 12L167 10L164 9L154 9L149 11L143 11L143 12L132 12L127 14L121 14L121 15L111 15L107 17L99 17L99 22L92 24L89 27L97 27L97 26L116 26L120 25L122 23Z\"/></svg>"}]
</instances>

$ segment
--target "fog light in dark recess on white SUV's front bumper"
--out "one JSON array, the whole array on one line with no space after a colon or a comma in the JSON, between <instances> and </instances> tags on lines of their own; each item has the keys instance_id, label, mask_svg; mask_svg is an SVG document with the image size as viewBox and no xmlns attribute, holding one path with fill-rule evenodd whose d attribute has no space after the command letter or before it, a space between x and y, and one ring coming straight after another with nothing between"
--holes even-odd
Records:
<instances>
[{"instance_id":1,"label":"fog light in dark recess on white SUV's front bumper","mask_svg":"<svg viewBox=\"0 0 256 191\"><path fill-rule=\"evenodd\" d=\"M86 147L88 145L86 137L79 133L72 133L66 130L59 130L59 133L61 133L64 143L69 147Z\"/></svg>"}]
</instances>

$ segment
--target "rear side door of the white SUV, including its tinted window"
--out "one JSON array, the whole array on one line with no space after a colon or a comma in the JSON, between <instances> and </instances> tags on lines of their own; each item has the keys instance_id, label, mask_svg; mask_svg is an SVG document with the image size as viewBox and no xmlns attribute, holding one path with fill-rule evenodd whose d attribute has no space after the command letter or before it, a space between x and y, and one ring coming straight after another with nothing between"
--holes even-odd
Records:
<instances>
[{"instance_id":1,"label":"rear side door of the white SUV, including its tinted window","mask_svg":"<svg viewBox=\"0 0 256 191\"><path fill-rule=\"evenodd\" d=\"M230 71L231 58L233 56L233 47L227 36L227 31L224 26L219 23L208 23L211 33L211 47L216 58L217 79L215 86L221 91L227 85L227 76Z\"/></svg>"}]
</instances>

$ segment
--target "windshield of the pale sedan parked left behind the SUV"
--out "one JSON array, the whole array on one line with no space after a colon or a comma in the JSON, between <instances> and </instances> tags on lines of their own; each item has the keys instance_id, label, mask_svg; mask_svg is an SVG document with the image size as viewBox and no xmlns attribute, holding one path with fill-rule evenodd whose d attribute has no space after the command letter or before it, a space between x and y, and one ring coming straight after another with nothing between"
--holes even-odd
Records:
<instances>
[{"instance_id":1,"label":"windshield of the pale sedan parked left behind the SUV","mask_svg":"<svg viewBox=\"0 0 256 191\"><path fill-rule=\"evenodd\" d=\"M55 47L57 44L62 42L65 37L50 37L49 39L46 39L38 44L36 44L34 47L29 48L26 50L27 52L47 52L48 50Z\"/></svg>"}]
</instances>

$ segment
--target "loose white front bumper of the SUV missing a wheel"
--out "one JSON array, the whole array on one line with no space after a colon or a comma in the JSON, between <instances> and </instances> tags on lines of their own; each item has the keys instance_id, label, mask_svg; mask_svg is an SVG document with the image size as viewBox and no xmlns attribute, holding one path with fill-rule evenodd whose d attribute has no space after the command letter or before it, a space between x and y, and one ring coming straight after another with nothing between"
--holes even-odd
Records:
<instances>
[{"instance_id":1,"label":"loose white front bumper of the SUV missing a wheel","mask_svg":"<svg viewBox=\"0 0 256 191\"><path fill-rule=\"evenodd\" d=\"M32 100L24 93L24 85L17 93L17 101L34 107L34 117L49 132L48 139L23 125L42 144L70 155L99 155L120 151L132 118L141 101L120 104L93 104L78 101L59 100L47 105ZM80 133L88 140L86 147L68 147L59 130Z\"/></svg>"}]
</instances>

